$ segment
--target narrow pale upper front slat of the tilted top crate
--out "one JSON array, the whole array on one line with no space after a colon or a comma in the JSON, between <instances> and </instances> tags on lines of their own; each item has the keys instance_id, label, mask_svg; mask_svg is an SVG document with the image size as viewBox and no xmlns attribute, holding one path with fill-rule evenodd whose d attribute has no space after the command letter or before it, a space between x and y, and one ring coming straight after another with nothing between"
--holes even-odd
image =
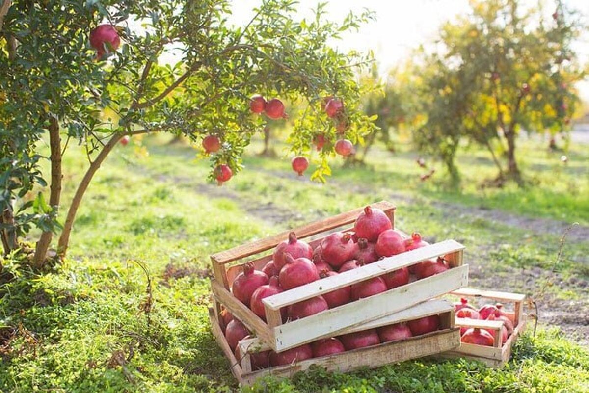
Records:
<instances>
[{"instance_id":1,"label":"narrow pale upper front slat of the tilted top crate","mask_svg":"<svg viewBox=\"0 0 589 393\"><path fill-rule=\"evenodd\" d=\"M361 268L352 269L332 277L326 277L314 282L310 282L309 284L302 285L301 287L280 292L280 294L264 298L262 302L272 309L283 308L291 304L325 294L327 292L335 291L335 289L348 287L348 285L354 284L356 282L378 277L402 267L413 265L417 262L425 261L426 259L435 258L439 255L448 254L449 252L459 251L462 249L464 249L464 245L454 240L446 240L429 245L427 247L421 247L412 251L403 252L402 254L393 255L392 257L373 262L372 264L363 266ZM452 270L453 269L450 269L449 271ZM406 286L407 285L404 285L403 287ZM415 302L413 304L415 304Z\"/></svg>"}]
</instances>

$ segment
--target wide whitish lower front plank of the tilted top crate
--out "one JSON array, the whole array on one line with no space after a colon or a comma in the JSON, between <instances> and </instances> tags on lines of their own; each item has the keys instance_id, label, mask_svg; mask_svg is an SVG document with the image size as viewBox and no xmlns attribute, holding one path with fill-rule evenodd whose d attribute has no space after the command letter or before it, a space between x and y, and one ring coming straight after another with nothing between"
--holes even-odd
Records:
<instances>
[{"instance_id":1,"label":"wide whitish lower front plank of the tilted top crate","mask_svg":"<svg viewBox=\"0 0 589 393\"><path fill-rule=\"evenodd\" d=\"M394 288L381 294L328 309L274 328L275 351L284 351L373 319L401 311L468 284L468 265ZM264 299L265 300L265 299Z\"/></svg>"}]
</instances>

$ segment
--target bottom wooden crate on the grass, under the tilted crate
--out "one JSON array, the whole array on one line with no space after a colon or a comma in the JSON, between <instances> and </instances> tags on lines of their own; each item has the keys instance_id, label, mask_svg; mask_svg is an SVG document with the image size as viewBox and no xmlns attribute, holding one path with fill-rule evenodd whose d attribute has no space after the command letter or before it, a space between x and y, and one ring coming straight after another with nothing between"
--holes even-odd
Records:
<instances>
[{"instance_id":1,"label":"bottom wooden crate on the grass, under the tilted crate","mask_svg":"<svg viewBox=\"0 0 589 393\"><path fill-rule=\"evenodd\" d=\"M244 354L244 356L241 359L236 359L221 332L216 314L213 309L209 310L213 335L227 359L229 359L231 372L233 372L241 385L251 385L257 378L266 375L289 378L298 371L308 369L311 365L326 368L328 371L348 372L361 367L375 368L394 362L425 357L458 347L460 345L460 332L459 328L454 326L454 308L451 304L442 300L423 302L415 307L369 322L362 327L346 329L341 333L362 331L436 314L440 315L441 321L441 329L436 332L403 341L386 342L372 347L354 349L353 351L322 358L307 359L290 365L252 370L249 352L266 351L270 347L258 338L242 340L239 345L240 353Z\"/></svg>"}]
</instances>

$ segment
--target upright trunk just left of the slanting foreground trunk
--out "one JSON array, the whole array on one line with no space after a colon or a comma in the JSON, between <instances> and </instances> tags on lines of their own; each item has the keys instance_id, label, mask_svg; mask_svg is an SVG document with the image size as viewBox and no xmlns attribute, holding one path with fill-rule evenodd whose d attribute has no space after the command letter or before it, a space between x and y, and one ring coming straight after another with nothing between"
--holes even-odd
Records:
<instances>
[{"instance_id":1,"label":"upright trunk just left of the slanting foreground trunk","mask_svg":"<svg viewBox=\"0 0 589 393\"><path fill-rule=\"evenodd\" d=\"M59 122L57 118L49 119L49 147L51 148L51 194L49 195L49 205L52 209L59 208L59 198L61 196L61 139L59 138ZM53 234L51 231L45 231L35 247L35 256L33 257L33 267L39 269L45 264L47 249L51 244Z\"/></svg>"}]
</instances>

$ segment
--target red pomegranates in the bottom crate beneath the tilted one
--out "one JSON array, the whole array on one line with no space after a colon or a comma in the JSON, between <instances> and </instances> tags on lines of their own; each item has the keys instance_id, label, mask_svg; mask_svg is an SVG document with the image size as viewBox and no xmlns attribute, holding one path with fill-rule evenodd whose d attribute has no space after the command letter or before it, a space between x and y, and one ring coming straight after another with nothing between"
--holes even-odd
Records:
<instances>
[{"instance_id":1,"label":"red pomegranates in the bottom crate beneath the tilted one","mask_svg":"<svg viewBox=\"0 0 589 393\"><path fill-rule=\"evenodd\" d=\"M237 344L243 339L252 338L250 332L227 309L221 311L219 324L227 339L227 344L229 344L229 347L234 352L237 361L240 361L242 356ZM439 315L430 315L429 317L413 319L412 321L388 325L378 329L367 329L343 334L338 337L319 339L310 344L303 344L279 353L274 351L251 353L250 359L253 370L276 367L292 364L295 361L320 358L339 354L340 352L351 351L352 349L399 341L409 337L427 334L440 328Z\"/></svg>"}]
</instances>

